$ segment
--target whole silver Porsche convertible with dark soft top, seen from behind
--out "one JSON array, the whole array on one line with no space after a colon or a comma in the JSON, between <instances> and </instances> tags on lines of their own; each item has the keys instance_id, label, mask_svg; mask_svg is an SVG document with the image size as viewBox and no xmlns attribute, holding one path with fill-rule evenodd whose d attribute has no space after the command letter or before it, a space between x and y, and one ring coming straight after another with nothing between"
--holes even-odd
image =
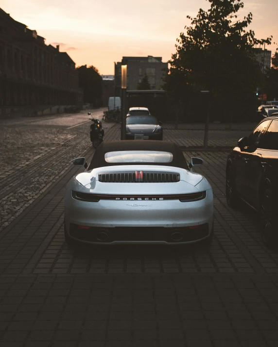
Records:
<instances>
[{"instance_id":1,"label":"whole silver Porsche convertible with dark soft top, seen from behind","mask_svg":"<svg viewBox=\"0 0 278 347\"><path fill-rule=\"evenodd\" d=\"M209 182L191 171L191 158L168 141L103 142L90 165L68 183L65 238L92 244L209 243L213 195Z\"/></svg>"}]
</instances>

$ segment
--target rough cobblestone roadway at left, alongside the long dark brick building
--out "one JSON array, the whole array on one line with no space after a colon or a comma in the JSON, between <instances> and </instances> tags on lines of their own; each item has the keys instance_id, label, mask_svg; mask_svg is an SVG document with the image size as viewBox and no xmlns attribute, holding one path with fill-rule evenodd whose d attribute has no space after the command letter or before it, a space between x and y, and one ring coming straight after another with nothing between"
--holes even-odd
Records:
<instances>
[{"instance_id":1,"label":"rough cobblestone roadway at left, alongside the long dark brick building","mask_svg":"<svg viewBox=\"0 0 278 347\"><path fill-rule=\"evenodd\" d=\"M102 114L94 113L95 117ZM15 119L7 122L0 127L0 231L64 175L73 158L92 147L89 121L68 131L57 124L38 127L43 120L30 123L27 119L20 127L14 126ZM104 123L106 139L115 137L114 126Z\"/></svg>"}]
</instances>

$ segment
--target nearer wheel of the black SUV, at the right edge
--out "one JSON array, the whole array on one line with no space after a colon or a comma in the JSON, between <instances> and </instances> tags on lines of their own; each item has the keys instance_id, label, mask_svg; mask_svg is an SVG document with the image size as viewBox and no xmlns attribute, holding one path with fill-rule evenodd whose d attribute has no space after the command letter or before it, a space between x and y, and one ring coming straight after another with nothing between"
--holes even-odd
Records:
<instances>
[{"instance_id":1,"label":"nearer wheel of the black SUV, at the right edge","mask_svg":"<svg viewBox=\"0 0 278 347\"><path fill-rule=\"evenodd\" d=\"M278 218L275 206L272 191L269 188L264 188L260 197L261 240L267 247L275 246L278 239Z\"/></svg>"}]
</instances>

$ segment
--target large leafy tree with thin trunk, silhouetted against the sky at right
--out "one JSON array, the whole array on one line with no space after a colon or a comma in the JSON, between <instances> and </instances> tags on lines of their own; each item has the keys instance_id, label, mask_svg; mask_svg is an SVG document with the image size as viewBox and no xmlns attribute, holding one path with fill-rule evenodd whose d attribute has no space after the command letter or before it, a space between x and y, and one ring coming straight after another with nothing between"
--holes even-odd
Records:
<instances>
[{"instance_id":1,"label":"large leafy tree with thin trunk, silhouetted against the sky at right","mask_svg":"<svg viewBox=\"0 0 278 347\"><path fill-rule=\"evenodd\" d=\"M262 44L262 40L255 38L253 31L246 30L252 21L251 13L242 21L236 19L243 2L208 1L211 6L207 12L200 9L197 17L187 16L191 19L191 26L185 26L186 34L181 33L177 39L176 53L172 54L172 60L169 61L171 67L168 76L168 83L172 86L177 80L184 85L183 90L190 88L195 93L209 91L205 148L208 146L213 101L222 99L230 105L235 98L254 95L261 71L253 48L256 44ZM271 38L265 41L269 44ZM179 83L174 90L178 98Z\"/></svg>"}]
</instances>

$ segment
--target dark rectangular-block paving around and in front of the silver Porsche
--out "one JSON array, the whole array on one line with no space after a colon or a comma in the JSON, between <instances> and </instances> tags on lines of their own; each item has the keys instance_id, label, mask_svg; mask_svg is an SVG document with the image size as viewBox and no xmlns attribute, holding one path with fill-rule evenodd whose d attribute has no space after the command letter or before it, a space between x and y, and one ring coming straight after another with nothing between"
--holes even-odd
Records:
<instances>
[{"instance_id":1,"label":"dark rectangular-block paving around and in front of the silver Porsche","mask_svg":"<svg viewBox=\"0 0 278 347\"><path fill-rule=\"evenodd\" d=\"M45 126L49 133L52 124ZM107 126L106 139L117 138L119 127ZM78 150L89 158L87 127L60 131L80 136L85 144ZM203 132L188 135L201 141ZM218 131L216 140L230 136L231 143L238 135ZM215 139L212 132L210 139ZM68 143L69 152L76 153L76 144ZM57 147L55 155L61 150ZM189 149L185 155L205 160L197 171L214 190L210 247L73 251L64 242L63 191L77 169L69 158L64 172L43 176L46 183L55 182L44 192L36 190L35 201L0 234L1 347L278 345L278 254L262 246L252 211L227 207L227 152Z\"/></svg>"}]
</instances>

